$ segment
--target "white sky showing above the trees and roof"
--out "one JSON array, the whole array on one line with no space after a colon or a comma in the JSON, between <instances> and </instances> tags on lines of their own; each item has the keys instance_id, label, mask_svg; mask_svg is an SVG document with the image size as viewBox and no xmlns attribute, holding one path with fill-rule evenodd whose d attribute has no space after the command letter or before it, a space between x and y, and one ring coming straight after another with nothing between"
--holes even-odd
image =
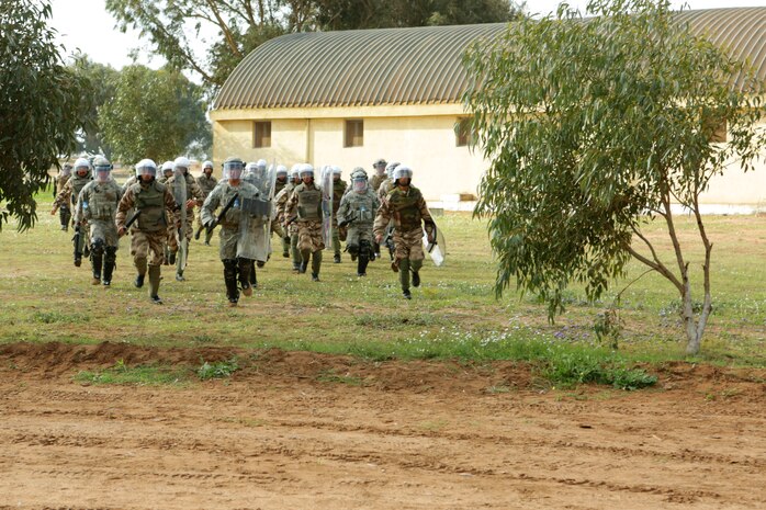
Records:
<instances>
[{"instance_id":1,"label":"white sky showing above the trees and roof","mask_svg":"<svg viewBox=\"0 0 766 510\"><path fill-rule=\"evenodd\" d=\"M53 20L50 24L58 32L57 41L66 47L67 55L79 48L92 60L109 64L121 69L132 63L128 53L140 49L138 61L153 68L164 64L159 57L149 59L148 43L138 34L123 34L115 30L114 19L106 12L104 0L52 0ZM573 8L584 9L587 0L571 0ZM673 0L680 8L687 3L690 9L714 9L722 7L763 7L766 0ZM531 13L549 14L555 11L559 0L528 0L527 10ZM201 42L199 50L204 52Z\"/></svg>"}]
</instances>

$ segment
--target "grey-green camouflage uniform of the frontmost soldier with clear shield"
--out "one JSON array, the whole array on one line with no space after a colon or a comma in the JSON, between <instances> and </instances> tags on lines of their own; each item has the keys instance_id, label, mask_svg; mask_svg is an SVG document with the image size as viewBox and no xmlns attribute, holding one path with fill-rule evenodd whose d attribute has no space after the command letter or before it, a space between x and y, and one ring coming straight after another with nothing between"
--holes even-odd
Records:
<instances>
[{"instance_id":1,"label":"grey-green camouflage uniform of the frontmost soldier with clear shield","mask_svg":"<svg viewBox=\"0 0 766 510\"><path fill-rule=\"evenodd\" d=\"M250 272L254 271L252 263L256 257L262 257L257 254L257 251L261 253L268 251L263 218L249 216L240 206L244 199L259 196L258 189L249 182L240 181L235 186L228 181L221 181L202 204L203 224L215 224L215 209L228 204L235 194L238 194L238 197L222 218L221 231L218 233L218 254L224 264L226 297L233 305L239 299L237 280L239 280L243 293L250 295L252 293L250 275Z\"/></svg>"}]
</instances>

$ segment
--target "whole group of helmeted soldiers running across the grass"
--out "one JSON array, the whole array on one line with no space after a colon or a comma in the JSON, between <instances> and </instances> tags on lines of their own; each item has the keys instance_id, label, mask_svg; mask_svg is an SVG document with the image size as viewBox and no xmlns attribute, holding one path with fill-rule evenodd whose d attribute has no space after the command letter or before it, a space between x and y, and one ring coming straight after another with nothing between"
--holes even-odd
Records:
<instances>
[{"instance_id":1,"label":"whole group of helmeted soldiers running across the grass","mask_svg":"<svg viewBox=\"0 0 766 510\"><path fill-rule=\"evenodd\" d=\"M353 169L350 184L338 167L326 167L315 181L314 168L297 163L267 168L264 160L248 163L232 157L223 163L223 177L213 177L212 161L194 179L184 157L160 167L150 159L135 166L135 174L120 186L112 165L103 157L92 162L80 158L64 165L55 180L52 215L59 213L61 229L75 227L74 258L80 267L90 259L92 284L111 285L119 240L131 234L131 254L136 269L134 284L143 287L148 274L148 294L159 297L161 267L174 264L176 280L185 280L192 237L210 245L218 228L218 254L229 306L240 293L252 295L262 268L271 256L271 237L281 239L282 256L292 259L295 273L311 264L312 280L319 281L323 251L329 245L334 262L341 262L341 241L357 262L357 275L367 275L370 261L388 248L391 268L398 273L403 296L412 298L412 286L420 285L425 259L424 226L429 242L436 242L436 224L420 191L412 185L413 171L379 159L373 174ZM198 230L192 228L198 209Z\"/></svg>"}]
</instances>

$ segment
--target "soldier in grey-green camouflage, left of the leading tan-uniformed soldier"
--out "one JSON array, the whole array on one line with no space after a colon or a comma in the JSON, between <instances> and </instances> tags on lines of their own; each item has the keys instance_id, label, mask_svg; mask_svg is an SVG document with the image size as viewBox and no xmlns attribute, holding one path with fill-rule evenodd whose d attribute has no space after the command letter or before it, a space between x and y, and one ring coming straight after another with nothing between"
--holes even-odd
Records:
<instances>
[{"instance_id":1,"label":"soldier in grey-green camouflage, left of the leading tan-uniformed soldier","mask_svg":"<svg viewBox=\"0 0 766 510\"><path fill-rule=\"evenodd\" d=\"M90 228L90 264L93 285L112 284L112 272L117 261L117 228L114 216L122 199L122 188L112 178L112 163L106 158L93 159L95 179L80 192L75 208L75 224ZM103 279L101 270L103 268Z\"/></svg>"}]
</instances>

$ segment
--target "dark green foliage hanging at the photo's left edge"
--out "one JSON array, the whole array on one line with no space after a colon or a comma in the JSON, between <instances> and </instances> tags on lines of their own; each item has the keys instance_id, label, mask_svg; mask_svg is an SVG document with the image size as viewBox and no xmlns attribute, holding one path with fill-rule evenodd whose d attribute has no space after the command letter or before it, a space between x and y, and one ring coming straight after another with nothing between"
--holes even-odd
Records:
<instances>
[{"instance_id":1,"label":"dark green foliage hanging at the photo's left edge","mask_svg":"<svg viewBox=\"0 0 766 510\"><path fill-rule=\"evenodd\" d=\"M92 122L91 84L64 66L49 19L45 1L0 2L0 229L12 217L19 230L35 224L34 194Z\"/></svg>"}]
</instances>

